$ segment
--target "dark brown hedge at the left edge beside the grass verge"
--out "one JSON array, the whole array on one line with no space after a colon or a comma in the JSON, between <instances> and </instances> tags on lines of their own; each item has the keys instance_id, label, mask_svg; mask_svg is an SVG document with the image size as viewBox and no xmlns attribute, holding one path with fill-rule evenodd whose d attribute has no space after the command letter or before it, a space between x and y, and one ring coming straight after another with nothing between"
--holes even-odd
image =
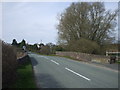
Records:
<instances>
[{"instance_id":1,"label":"dark brown hedge at the left edge beside the grass verge","mask_svg":"<svg viewBox=\"0 0 120 90\"><path fill-rule=\"evenodd\" d=\"M2 42L2 87L8 88L15 81L17 57L15 48Z\"/></svg>"}]
</instances>

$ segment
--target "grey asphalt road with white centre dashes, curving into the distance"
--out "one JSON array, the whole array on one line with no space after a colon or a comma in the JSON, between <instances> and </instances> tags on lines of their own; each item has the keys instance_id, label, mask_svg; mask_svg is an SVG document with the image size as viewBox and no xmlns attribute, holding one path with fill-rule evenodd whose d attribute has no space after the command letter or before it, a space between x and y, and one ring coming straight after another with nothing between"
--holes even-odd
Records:
<instances>
[{"instance_id":1,"label":"grey asphalt road with white centre dashes, curving into the distance","mask_svg":"<svg viewBox=\"0 0 120 90\"><path fill-rule=\"evenodd\" d=\"M118 88L118 72L64 57L29 54L38 88Z\"/></svg>"}]
</instances>

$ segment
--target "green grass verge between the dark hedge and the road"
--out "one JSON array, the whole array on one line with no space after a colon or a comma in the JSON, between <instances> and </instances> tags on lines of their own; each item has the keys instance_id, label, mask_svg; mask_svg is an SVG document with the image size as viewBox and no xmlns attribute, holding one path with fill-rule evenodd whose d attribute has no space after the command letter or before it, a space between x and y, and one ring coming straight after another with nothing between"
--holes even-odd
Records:
<instances>
[{"instance_id":1,"label":"green grass verge between the dark hedge and the road","mask_svg":"<svg viewBox=\"0 0 120 90\"><path fill-rule=\"evenodd\" d=\"M17 80L10 88L36 88L30 60L27 60L24 64L18 66Z\"/></svg>"}]
</instances>

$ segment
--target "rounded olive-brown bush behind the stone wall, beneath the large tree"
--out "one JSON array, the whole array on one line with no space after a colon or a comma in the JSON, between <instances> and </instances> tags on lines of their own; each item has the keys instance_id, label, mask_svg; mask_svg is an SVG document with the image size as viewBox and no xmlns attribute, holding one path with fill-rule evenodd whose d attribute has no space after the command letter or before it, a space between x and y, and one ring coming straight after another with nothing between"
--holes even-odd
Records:
<instances>
[{"instance_id":1,"label":"rounded olive-brown bush behind the stone wall, beneath the large tree","mask_svg":"<svg viewBox=\"0 0 120 90\"><path fill-rule=\"evenodd\" d=\"M72 41L67 47L70 51L99 54L100 46L93 41L81 38L80 40Z\"/></svg>"}]
</instances>

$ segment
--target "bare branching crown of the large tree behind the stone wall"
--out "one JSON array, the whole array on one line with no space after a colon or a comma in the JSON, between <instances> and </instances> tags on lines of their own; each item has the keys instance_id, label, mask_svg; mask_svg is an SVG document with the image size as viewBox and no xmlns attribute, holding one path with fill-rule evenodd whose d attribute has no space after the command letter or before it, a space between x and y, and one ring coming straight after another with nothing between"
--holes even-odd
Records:
<instances>
[{"instance_id":1,"label":"bare branching crown of the large tree behind the stone wall","mask_svg":"<svg viewBox=\"0 0 120 90\"><path fill-rule=\"evenodd\" d=\"M105 10L102 2L72 3L59 17L59 40L69 44L84 38L100 45L111 41L117 12Z\"/></svg>"}]
</instances>

